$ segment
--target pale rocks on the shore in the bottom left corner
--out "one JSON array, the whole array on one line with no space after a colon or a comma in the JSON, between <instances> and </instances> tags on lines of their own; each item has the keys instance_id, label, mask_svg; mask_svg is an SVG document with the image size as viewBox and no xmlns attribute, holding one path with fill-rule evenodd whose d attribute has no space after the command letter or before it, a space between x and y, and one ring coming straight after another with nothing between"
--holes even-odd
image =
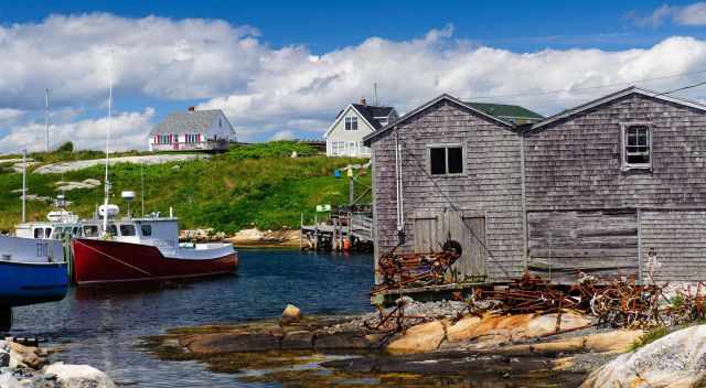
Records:
<instances>
[{"instance_id":1,"label":"pale rocks on the shore in the bottom left corner","mask_svg":"<svg viewBox=\"0 0 706 388\"><path fill-rule=\"evenodd\" d=\"M50 363L51 349L0 341L2 388L114 388L105 373L88 365Z\"/></svg>"}]
</instances>

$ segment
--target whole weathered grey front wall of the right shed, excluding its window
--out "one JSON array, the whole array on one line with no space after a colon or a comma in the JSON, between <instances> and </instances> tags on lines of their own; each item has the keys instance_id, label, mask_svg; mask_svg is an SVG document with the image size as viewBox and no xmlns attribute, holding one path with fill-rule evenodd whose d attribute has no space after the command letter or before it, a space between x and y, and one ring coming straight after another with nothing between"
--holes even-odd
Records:
<instances>
[{"instance_id":1,"label":"whole weathered grey front wall of the right shed, excluding its window","mask_svg":"<svg viewBox=\"0 0 706 388\"><path fill-rule=\"evenodd\" d=\"M652 170L621 171L620 123L637 121L651 128ZM554 212L543 220L553 225L577 211L637 209L643 276L648 250L653 247L663 263L660 279L706 278L706 212L697 211L706 208L706 115L633 94L524 137L528 215ZM671 212L687 208L693 212ZM613 220L606 213L591 224L610 226ZM579 226L574 227L577 230ZM634 250L632 231L624 231L597 240L611 247L612 251L597 256L602 256L607 267L634 262L632 256L614 255ZM531 247L542 244L542 236L530 234ZM577 238L569 249L573 260L587 263L590 260L576 254L582 245Z\"/></svg>"}]
</instances>

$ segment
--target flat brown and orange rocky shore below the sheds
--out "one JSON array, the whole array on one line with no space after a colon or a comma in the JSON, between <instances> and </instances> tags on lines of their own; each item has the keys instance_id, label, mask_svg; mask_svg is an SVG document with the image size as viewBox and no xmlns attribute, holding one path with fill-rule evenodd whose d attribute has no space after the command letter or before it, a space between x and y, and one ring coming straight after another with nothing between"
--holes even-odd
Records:
<instances>
[{"instance_id":1,"label":"flat brown and orange rocky shore below the sheds","mask_svg":"<svg viewBox=\"0 0 706 388\"><path fill-rule=\"evenodd\" d=\"M169 331L145 348L169 360L200 360L244 382L285 387L577 387L605 363L627 352L643 333L595 327L589 317L463 314L463 303L409 303L426 316L403 332L376 332L376 313L304 316L289 306L281 320ZM473 385L474 386L474 385Z\"/></svg>"}]
</instances>

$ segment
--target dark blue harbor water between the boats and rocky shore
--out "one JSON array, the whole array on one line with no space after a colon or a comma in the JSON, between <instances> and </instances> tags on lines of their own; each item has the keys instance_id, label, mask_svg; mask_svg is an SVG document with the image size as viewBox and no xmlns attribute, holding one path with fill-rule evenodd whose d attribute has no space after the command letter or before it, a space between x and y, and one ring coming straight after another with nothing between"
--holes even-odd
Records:
<instances>
[{"instance_id":1,"label":"dark blue harbor water between the boats and rocky shore","mask_svg":"<svg viewBox=\"0 0 706 388\"><path fill-rule=\"evenodd\" d=\"M64 351L60 360L88 364L119 385L254 387L195 362L161 362L139 348L170 327L279 316L287 303L304 314L370 311L370 255L282 249L239 251L237 276L145 288L71 289L61 302L14 309L12 335L36 336Z\"/></svg>"}]
</instances>

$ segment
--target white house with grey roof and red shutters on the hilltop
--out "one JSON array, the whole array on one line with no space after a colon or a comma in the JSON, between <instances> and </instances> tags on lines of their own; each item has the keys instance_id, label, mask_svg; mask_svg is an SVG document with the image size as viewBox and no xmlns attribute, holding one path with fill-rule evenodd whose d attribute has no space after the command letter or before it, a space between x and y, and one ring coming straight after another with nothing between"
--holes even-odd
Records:
<instances>
[{"instance_id":1,"label":"white house with grey roof and red shutters on the hilltop","mask_svg":"<svg viewBox=\"0 0 706 388\"><path fill-rule=\"evenodd\" d=\"M172 112L152 128L150 151L224 151L236 141L235 129L222 110Z\"/></svg>"}]
</instances>

